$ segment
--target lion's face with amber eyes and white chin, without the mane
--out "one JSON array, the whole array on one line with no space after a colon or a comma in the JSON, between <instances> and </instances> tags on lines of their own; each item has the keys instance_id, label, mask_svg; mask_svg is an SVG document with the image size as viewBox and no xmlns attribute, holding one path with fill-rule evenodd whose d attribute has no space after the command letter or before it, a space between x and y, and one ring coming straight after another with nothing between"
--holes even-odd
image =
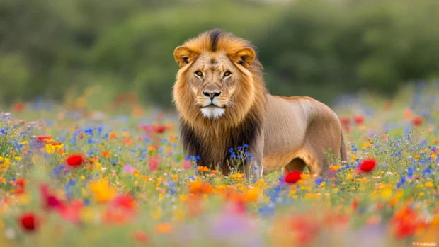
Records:
<instances>
[{"instance_id":1,"label":"lion's face with amber eyes and white chin, without the mane","mask_svg":"<svg viewBox=\"0 0 439 247\"><path fill-rule=\"evenodd\" d=\"M202 54L188 70L191 93L207 118L224 115L233 104L239 71L226 54Z\"/></svg>"}]
</instances>

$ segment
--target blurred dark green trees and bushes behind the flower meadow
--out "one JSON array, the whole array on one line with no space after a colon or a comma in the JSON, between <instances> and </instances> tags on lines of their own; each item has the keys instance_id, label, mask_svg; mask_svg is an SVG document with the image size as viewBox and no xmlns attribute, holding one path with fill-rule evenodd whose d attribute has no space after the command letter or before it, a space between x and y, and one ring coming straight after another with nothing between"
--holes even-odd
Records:
<instances>
[{"instance_id":1,"label":"blurred dark green trees and bushes behind the flower meadow","mask_svg":"<svg viewBox=\"0 0 439 247\"><path fill-rule=\"evenodd\" d=\"M102 85L169 106L174 48L211 28L258 47L272 93L392 93L439 77L438 13L437 0L1 0L0 101Z\"/></svg>"}]
</instances>

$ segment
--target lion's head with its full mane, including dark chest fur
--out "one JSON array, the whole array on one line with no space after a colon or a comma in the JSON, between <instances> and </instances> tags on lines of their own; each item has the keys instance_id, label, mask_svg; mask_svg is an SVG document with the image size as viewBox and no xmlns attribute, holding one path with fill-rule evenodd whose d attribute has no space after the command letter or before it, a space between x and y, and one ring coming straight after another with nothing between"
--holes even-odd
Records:
<instances>
[{"instance_id":1,"label":"lion's head with its full mane, including dark chest fur","mask_svg":"<svg viewBox=\"0 0 439 247\"><path fill-rule=\"evenodd\" d=\"M265 120L266 87L256 52L247 40L211 30L173 55L180 66L173 100L186 154L200 155L199 165L221 163L227 173L227 149L251 145Z\"/></svg>"}]
</instances>

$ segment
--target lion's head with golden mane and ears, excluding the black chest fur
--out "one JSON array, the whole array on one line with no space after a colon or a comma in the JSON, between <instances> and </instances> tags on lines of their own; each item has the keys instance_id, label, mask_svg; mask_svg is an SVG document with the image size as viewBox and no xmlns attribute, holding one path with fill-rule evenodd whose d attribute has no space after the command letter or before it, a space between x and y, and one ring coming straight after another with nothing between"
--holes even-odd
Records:
<instances>
[{"instance_id":1,"label":"lion's head with golden mane and ears, excluding the black chest fur","mask_svg":"<svg viewBox=\"0 0 439 247\"><path fill-rule=\"evenodd\" d=\"M173 100L190 125L239 125L252 107L261 105L262 67L247 40L211 30L186 41L173 55L180 66Z\"/></svg>"}]
</instances>

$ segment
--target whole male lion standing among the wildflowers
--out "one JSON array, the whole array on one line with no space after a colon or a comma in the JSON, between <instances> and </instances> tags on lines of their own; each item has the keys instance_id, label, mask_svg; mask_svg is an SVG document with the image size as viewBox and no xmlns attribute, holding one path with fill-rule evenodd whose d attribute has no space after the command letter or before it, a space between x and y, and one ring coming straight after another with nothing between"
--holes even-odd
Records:
<instances>
[{"instance_id":1,"label":"whole male lion standing among the wildflowers","mask_svg":"<svg viewBox=\"0 0 439 247\"><path fill-rule=\"evenodd\" d=\"M178 63L173 103L186 155L198 166L230 173L229 149L248 147L246 178L282 168L322 176L329 149L346 160L341 123L327 105L309 97L273 96L251 42L222 30L187 40L173 52ZM248 159L247 159L248 160Z\"/></svg>"}]
</instances>

